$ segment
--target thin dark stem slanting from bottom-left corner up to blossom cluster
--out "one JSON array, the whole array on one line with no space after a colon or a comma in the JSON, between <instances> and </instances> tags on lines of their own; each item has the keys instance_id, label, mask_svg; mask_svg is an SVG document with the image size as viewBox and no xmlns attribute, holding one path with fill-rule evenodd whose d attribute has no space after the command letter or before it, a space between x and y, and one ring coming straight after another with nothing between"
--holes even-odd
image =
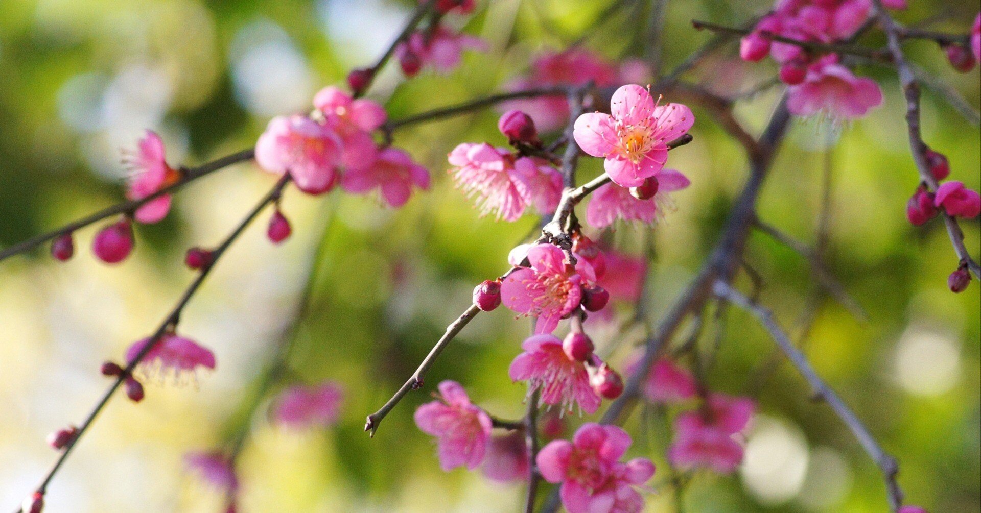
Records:
<instances>
[{"instance_id":1,"label":"thin dark stem slanting from bottom-left corner up to blossom cluster","mask_svg":"<svg viewBox=\"0 0 981 513\"><path fill-rule=\"evenodd\" d=\"M282 193L284 186L288 182L289 182L289 176L285 175L282 179L280 179L276 183L276 185L273 186L273 188L262 198L262 200L260 200L259 203L252 208L249 214L245 216L245 218L238 224L238 226L235 227L234 230L232 230L232 233L230 233L229 236L226 237L225 240L217 248L215 248L214 251L212 251L212 263L207 267L203 268L201 270L201 273L197 276L197 278L195 278L193 282L190 282L190 284L187 286L187 288L184 290L183 294L181 295L181 299L178 300L177 305L174 306L174 309L171 310L171 313L168 314L166 318L164 318L164 321L160 323L160 326L157 328L157 331L153 333L153 335L150 337L150 341L146 343L143 346L142 350L140 350L139 353L137 353L136 356L132 359L132 361L129 362L126 371L122 373L120 376L118 376L113 381L113 384L110 385L108 389L106 389L105 393L102 395L102 398L99 399L99 401L95 404L95 407L92 409L92 411L89 412L85 420L78 426L77 436L72 438L72 440L65 446L61 455L58 457L58 460L55 461L54 466L48 472L47 476L45 476L40 486L37 487L37 491L39 491L40 493L44 493L46 491L48 484L51 483L51 480L54 479L59 469L61 469L62 464L64 464L65 460L68 459L69 455L72 453L72 450L75 448L78 440L81 438L82 435L85 434L89 426L92 425L92 423L95 421L95 418L109 402L109 399L112 397L113 392L115 392L116 389L119 388L124 381L126 381L127 377L131 375L133 369L135 369L135 367L139 365L139 363L143 360L143 358L147 355L147 353L149 353L150 350L153 349L154 346L156 346L156 344L160 341L164 333L167 333L168 330L171 330L174 327L176 327L176 325L180 321L181 312L183 311L184 307L187 305L188 301L190 301L190 298L194 296L194 293L197 292L198 288L211 273L211 270L214 269L215 264L218 263L218 260L222 257L222 255L225 254L225 251L232 245L232 242L234 242L235 239L238 238L238 236L242 233L242 231L245 231L245 228L248 227L249 224L251 224L251 222L256 218L256 216L258 216L259 213L267 205L269 205L270 203L272 203L273 201L275 201L277 198L280 197L280 194Z\"/></svg>"}]
</instances>

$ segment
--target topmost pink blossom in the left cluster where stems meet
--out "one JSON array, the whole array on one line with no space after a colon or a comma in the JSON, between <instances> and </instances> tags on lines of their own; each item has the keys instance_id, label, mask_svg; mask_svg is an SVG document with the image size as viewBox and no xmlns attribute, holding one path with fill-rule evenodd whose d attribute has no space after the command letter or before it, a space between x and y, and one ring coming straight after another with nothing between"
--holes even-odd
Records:
<instances>
[{"instance_id":1,"label":"topmost pink blossom in the left cluster where stems meet","mask_svg":"<svg viewBox=\"0 0 981 513\"><path fill-rule=\"evenodd\" d=\"M355 100L333 85L318 91L313 97L313 105L324 115L324 124L340 137L340 163L344 169L361 170L371 166L378 152L371 133L385 123L385 109L366 98Z\"/></svg>"}]
</instances>

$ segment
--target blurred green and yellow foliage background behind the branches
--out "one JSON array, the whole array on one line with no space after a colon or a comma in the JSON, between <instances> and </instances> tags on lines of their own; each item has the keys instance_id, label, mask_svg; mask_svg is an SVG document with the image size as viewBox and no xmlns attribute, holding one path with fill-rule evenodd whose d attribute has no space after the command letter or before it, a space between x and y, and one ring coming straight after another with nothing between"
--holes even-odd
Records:
<instances>
[{"instance_id":1,"label":"blurred green and yellow foliage background behind the branches","mask_svg":"<svg viewBox=\"0 0 981 513\"><path fill-rule=\"evenodd\" d=\"M959 32L979 7L911 3L902 21L940 13L933 27ZM561 48L584 29L592 33L587 46L609 58L637 52L632 34L643 31L649 9L641 1L629 16L591 28L606 2L489 4L466 20L468 31L488 39L489 52L468 54L448 76L402 82L389 69L370 96L386 102L397 119L498 91L527 70L535 52ZM306 109L318 87L371 62L411 6L388 0L0 3L0 245L119 201L124 171L117 148L131 145L143 128L164 134L174 163L193 165L248 147L273 114ZM735 26L767 7L669 1L661 35L665 66L709 37L694 30L691 19ZM882 40L870 36L867 42ZM977 71L956 74L931 43L906 47L977 108ZM731 46L719 56L688 79L734 94L775 71L772 63L741 64ZM856 320L821 296L810 330L800 336L806 352L899 458L911 503L934 513L976 512L981 286L948 291L956 258L943 225L905 222L916 175L896 77L886 68L859 73L879 80L884 105L844 126L795 120L758 211L768 223L814 240L830 161L826 256L868 318ZM741 101L738 118L758 132L779 94L774 87ZM952 179L979 188L978 128L930 91L923 110L924 136L950 158ZM672 152L670 161L693 185L674 196L677 210L653 230L651 319L697 271L747 177L741 148L707 113L695 112L695 142ZM489 110L396 133L395 143L434 176L432 191L398 211L339 190L319 198L287 192L284 209L294 236L272 247L261 219L181 320L183 333L214 348L217 372L200 376L196 385L151 385L139 405L111 404L49 488L47 511L217 511L221 497L186 475L181 454L216 446L242 426L252 430L241 460L243 511L516 510L520 486L492 485L476 472L440 472L432 440L411 419L443 379L464 384L496 415L522 414L524 388L510 383L506 369L527 322L504 309L478 317L449 346L426 388L407 396L378 436L362 433L365 415L411 374L469 303L473 284L497 276L507 251L534 229L532 216L514 224L477 219L444 172L445 154L459 142L503 143L495 121ZM600 170L596 159L584 159L579 178ZM137 251L118 267L94 261L87 250L92 229L77 233L77 257L68 264L53 263L44 251L0 264L0 507L13 509L54 459L44 434L78 422L106 385L98 365L119 358L169 311L192 276L181 266L183 251L220 240L272 180L240 165L195 182L178 195L166 221L138 229ZM981 254L978 221L961 226L967 247ZM249 420L240 411L293 318L323 227L313 303L286 377L336 380L347 398L335 429L287 434L269 425L263 408ZM637 252L645 233L621 227L610 239ZM791 333L803 332L800 319L815 290L806 262L758 233L750 236L747 261L763 279L761 300ZM749 290L745 278L739 284ZM760 435L744 472L695 476L684 494L686 511L885 511L878 471L842 423L827 406L808 400L806 385L786 364L757 392L772 342L744 313L733 311L726 320L706 326L706 347L721 331L709 383L727 393L758 393L763 417L753 431ZM620 348L612 358L617 364L640 341L638 333L615 330L600 330L596 338ZM570 429L586 420L592 418L573 417ZM656 416L642 413L628 427L636 439L631 454L654 459L653 483L662 483L669 435ZM674 499L658 488L647 508L675 511Z\"/></svg>"}]
</instances>

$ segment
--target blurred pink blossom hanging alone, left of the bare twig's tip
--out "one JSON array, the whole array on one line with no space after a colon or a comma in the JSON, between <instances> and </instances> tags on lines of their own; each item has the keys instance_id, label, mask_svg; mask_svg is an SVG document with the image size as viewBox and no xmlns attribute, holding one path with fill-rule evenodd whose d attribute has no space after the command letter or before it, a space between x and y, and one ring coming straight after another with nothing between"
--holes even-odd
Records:
<instances>
[{"instance_id":1,"label":"blurred pink blossom hanging alone, left of the bare twig's tip","mask_svg":"<svg viewBox=\"0 0 981 513\"><path fill-rule=\"evenodd\" d=\"M333 382L290 386L276 399L273 419L294 430L326 428L336 422L343 398L340 385Z\"/></svg>"}]
</instances>

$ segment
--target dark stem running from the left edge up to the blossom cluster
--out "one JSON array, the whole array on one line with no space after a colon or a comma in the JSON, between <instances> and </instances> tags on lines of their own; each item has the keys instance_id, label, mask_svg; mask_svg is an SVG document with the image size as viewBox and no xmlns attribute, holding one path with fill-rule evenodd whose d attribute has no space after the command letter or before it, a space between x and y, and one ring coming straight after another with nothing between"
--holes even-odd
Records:
<instances>
[{"instance_id":1,"label":"dark stem running from the left edge up to the blossom cluster","mask_svg":"<svg viewBox=\"0 0 981 513\"><path fill-rule=\"evenodd\" d=\"M144 198L133 199L129 201L124 201L122 203L117 203L110 207L106 207L98 212L95 212L94 214L85 216L75 222L69 223L68 225L65 225L64 227L61 227L57 230L48 231L47 233L41 233L40 235L28 238L24 242L14 244L13 246L5 248L4 250L0 251L0 261L9 258L11 256L14 256L18 253L23 253L27 250L33 249L34 247L37 247L43 244L44 242L47 242L48 240L51 240L62 234L71 233L72 231L76 231L80 228L87 227L88 225L97 223L108 217L117 216L120 214L131 214L132 212L135 212L136 209L138 209L139 207L143 206L144 204L150 201L153 201L154 199L157 199L160 196L163 196L164 194L174 192L175 190L181 188L187 183L190 183L191 181L200 179L201 177L208 176L220 169L231 166L232 164L237 164L239 162L245 162L247 160L251 160L253 155L254 152L252 149L242 150L237 153L232 153L232 155L228 155L220 159L216 159L207 164L202 164L201 166L198 166L196 168L187 169L184 171L181 180L178 180L174 184L168 187L164 187Z\"/></svg>"}]
</instances>

